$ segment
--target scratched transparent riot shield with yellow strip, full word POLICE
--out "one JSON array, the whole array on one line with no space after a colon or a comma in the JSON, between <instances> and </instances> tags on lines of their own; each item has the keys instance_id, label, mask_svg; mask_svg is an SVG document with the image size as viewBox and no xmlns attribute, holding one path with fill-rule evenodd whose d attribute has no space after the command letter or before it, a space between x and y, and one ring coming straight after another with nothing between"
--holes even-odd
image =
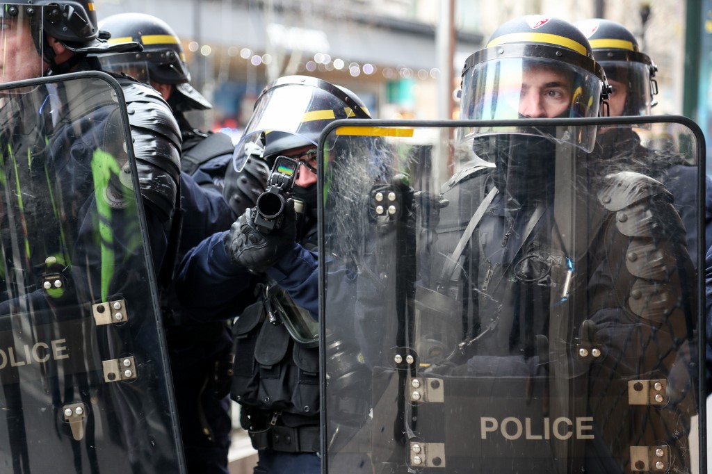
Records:
<instances>
[{"instance_id":1,"label":"scratched transparent riot shield with yellow strip, full word POLICE","mask_svg":"<svg viewBox=\"0 0 712 474\"><path fill-rule=\"evenodd\" d=\"M350 120L320 153L326 472L706 472L693 122Z\"/></svg>"}]
</instances>

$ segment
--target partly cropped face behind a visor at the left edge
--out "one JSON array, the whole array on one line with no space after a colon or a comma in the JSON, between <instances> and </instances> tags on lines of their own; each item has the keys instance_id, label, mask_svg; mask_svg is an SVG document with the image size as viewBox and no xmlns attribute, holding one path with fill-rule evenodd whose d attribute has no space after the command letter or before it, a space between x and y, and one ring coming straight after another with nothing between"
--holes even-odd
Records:
<instances>
[{"instance_id":1,"label":"partly cropped face behind a visor at the left edge","mask_svg":"<svg viewBox=\"0 0 712 474\"><path fill-rule=\"evenodd\" d=\"M0 18L0 83L37 78L43 70L28 21Z\"/></svg>"}]
</instances>

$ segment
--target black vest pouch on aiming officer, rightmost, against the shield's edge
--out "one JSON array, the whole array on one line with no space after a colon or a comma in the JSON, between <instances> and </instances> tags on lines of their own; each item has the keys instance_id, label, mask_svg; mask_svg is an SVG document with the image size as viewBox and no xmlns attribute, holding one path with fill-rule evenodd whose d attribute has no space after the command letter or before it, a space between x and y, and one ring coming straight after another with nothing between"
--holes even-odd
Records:
<instances>
[{"instance_id":1,"label":"black vest pouch on aiming officer, rightmost, against the shield's edge","mask_svg":"<svg viewBox=\"0 0 712 474\"><path fill-rule=\"evenodd\" d=\"M295 413L316 415L319 413L319 348L294 344L293 360L297 383L292 392Z\"/></svg>"}]
</instances>

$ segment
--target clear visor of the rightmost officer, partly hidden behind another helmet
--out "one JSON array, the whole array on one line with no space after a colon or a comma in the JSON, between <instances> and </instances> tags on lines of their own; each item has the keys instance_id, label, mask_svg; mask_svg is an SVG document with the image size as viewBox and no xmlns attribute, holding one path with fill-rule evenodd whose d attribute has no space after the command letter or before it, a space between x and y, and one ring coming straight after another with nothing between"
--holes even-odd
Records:
<instances>
[{"instance_id":1,"label":"clear visor of the rightmost officer, partly hidden behind another helmet","mask_svg":"<svg viewBox=\"0 0 712 474\"><path fill-rule=\"evenodd\" d=\"M612 92L608 96L609 115L651 115L653 94L650 67L634 61L601 61Z\"/></svg>"}]
</instances>

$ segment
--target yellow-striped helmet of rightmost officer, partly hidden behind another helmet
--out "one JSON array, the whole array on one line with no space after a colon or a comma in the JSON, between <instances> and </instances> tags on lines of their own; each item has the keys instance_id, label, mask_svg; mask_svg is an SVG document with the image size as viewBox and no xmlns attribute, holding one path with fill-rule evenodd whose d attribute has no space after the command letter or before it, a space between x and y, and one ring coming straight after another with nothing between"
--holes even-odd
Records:
<instances>
[{"instance_id":1,"label":"yellow-striped helmet of rightmost officer, partly hidden behind another helmet","mask_svg":"<svg viewBox=\"0 0 712 474\"><path fill-rule=\"evenodd\" d=\"M626 93L622 110L614 115L650 115L658 93L654 80L657 66L640 51L638 41L625 26L615 21L590 19L576 26L588 38L593 56L599 63L616 93ZM619 91L617 88L625 90ZM613 114L612 107L612 114Z\"/></svg>"}]
</instances>

